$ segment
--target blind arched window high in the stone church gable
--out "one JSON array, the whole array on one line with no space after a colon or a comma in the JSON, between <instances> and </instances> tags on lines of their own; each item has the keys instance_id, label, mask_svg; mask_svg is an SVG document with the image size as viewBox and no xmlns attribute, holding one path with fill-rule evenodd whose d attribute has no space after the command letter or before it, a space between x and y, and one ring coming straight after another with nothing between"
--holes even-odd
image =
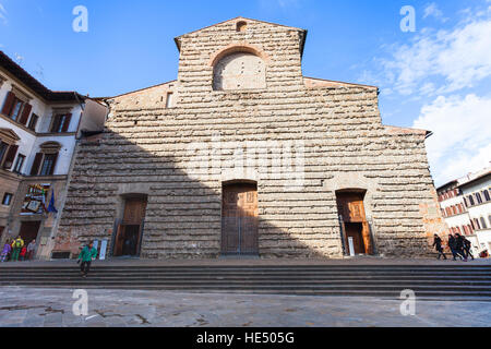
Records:
<instances>
[{"instance_id":1,"label":"blind arched window high in the stone church gable","mask_svg":"<svg viewBox=\"0 0 491 349\"><path fill-rule=\"evenodd\" d=\"M214 91L262 88L266 88L266 63L252 52L231 52L213 69Z\"/></svg>"}]
</instances>

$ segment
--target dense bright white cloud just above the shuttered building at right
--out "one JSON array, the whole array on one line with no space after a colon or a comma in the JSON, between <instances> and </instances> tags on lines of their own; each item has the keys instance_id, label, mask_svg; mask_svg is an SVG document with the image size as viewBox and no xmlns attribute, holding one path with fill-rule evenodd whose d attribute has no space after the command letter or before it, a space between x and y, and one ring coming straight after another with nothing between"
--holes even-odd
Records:
<instances>
[{"instance_id":1,"label":"dense bright white cloud just above the shuttered building at right","mask_svg":"<svg viewBox=\"0 0 491 349\"><path fill-rule=\"evenodd\" d=\"M434 133L427 149L438 185L489 166L491 97L439 96L422 107L412 127Z\"/></svg>"}]
</instances>

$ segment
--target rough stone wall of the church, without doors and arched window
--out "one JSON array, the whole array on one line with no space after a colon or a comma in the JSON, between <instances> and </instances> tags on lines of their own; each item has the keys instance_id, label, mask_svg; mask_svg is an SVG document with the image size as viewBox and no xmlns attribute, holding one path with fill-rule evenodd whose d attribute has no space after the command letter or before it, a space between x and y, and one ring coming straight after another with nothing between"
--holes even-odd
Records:
<instances>
[{"instance_id":1,"label":"rough stone wall of the church, without doors and arched window","mask_svg":"<svg viewBox=\"0 0 491 349\"><path fill-rule=\"evenodd\" d=\"M144 193L142 256L214 257L223 182L249 179L258 181L263 257L340 256L335 191L347 188L367 190L378 253L427 253L427 220L434 217L421 204L431 206L435 195L426 133L384 127L375 87L304 82L301 31L248 22L243 33L229 21L178 38L176 108L112 100L106 132L80 145L59 239L110 238L121 195ZM213 91L209 62L233 45L261 50L267 88ZM203 153L217 137L221 151ZM303 163L287 176L274 161L237 166L237 148L251 142L296 142ZM302 185L290 184L296 176Z\"/></svg>"}]
</instances>

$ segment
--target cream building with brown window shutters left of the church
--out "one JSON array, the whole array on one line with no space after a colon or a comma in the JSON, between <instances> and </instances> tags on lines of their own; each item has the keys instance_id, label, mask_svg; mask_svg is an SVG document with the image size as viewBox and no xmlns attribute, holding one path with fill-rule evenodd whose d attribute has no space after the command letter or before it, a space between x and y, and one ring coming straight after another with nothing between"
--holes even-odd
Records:
<instances>
[{"instance_id":1,"label":"cream building with brown window shutters left of the church","mask_svg":"<svg viewBox=\"0 0 491 349\"><path fill-rule=\"evenodd\" d=\"M0 242L21 234L51 255L76 140L103 129L107 108L75 92L52 92L0 51Z\"/></svg>"}]
</instances>

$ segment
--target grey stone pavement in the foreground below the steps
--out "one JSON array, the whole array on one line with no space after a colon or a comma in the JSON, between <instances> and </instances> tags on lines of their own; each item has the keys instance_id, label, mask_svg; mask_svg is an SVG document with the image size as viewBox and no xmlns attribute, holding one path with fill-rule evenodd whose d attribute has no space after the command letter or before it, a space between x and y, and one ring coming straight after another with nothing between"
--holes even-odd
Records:
<instances>
[{"instance_id":1,"label":"grey stone pavement in the foreground below the steps","mask_svg":"<svg viewBox=\"0 0 491 349\"><path fill-rule=\"evenodd\" d=\"M88 290L88 314L72 312L73 290L0 288L2 327L371 327L491 326L491 300L402 300L360 297L211 294Z\"/></svg>"}]
</instances>

